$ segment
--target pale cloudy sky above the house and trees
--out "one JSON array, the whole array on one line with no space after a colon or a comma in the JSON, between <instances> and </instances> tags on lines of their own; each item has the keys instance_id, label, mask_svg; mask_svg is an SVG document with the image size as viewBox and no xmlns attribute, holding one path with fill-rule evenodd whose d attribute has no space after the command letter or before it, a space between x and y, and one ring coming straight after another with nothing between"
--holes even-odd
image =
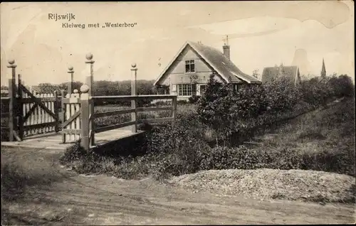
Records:
<instances>
[{"instance_id":1,"label":"pale cloudy sky above the house and trees","mask_svg":"<svg viewBox=\"0 0 356 226\"><path fill-rule=\"evenodd\" d=\"M155 80L186 41L222 51L229 36L231 60L251 75L265 67L291 65L303 53L303 74L354 79L353 1L164 1L1 3L1 85L11 76L8 60L26 85L85 81L85 55L93 54L94 80ZM73 14L55 21L48 14ZM63 28L84 23L85 28ZM88 28L99 23L99 28ZM103 28L105 23L136 23ZM297 60L298 61L298 60ZM300 62L300 61L298 61ZM307 63L305 63L307 62ZM301 63L303 64L303 62Z\"/></svg>"}]
</instances>

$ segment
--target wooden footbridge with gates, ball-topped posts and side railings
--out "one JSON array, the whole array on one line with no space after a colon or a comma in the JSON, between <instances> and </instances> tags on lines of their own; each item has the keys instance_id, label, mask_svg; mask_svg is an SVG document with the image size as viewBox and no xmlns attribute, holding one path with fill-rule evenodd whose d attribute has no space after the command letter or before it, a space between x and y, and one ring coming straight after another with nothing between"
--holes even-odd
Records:
<instances>
[{"instance_id":1,"label":"wooden footbridge with gates, ball-topped posts and side railings","mask_svg":"<svg viewBox=\"0 0 356 226\"><path fill-rule=\"evenodd\" d=\"M88 77L85 85L78 90L73 90L73 67L68 68L70 82L68 93L56 92L38 94L29 90L18 75L16 82L16 65L14 60L9 60L8 68L11 70L9 79L9 97L1 97L1 134L8 134L8 141L3 141L1 146L27 146L39 149L66 149L76 141L87 151L95 146L101 146L142 134L144 131L137 129L143 122L167 122L174 124L177 114L176 95L137 95L136 78L137 68L131 68L132 82L131 95L127 96L93 96L93 55L87 54L85 63L88 65ZM137 102L155 99L172 99L168 107L137 107ZM119 109L110 112L94 112L94 105L98 102L112 100L130 100L129 109ZM154 119L138 119L138 112L169 111L169 117ZM100 117L130 114L130 121L97 127L94 119ZM5 122L4 119L8 119Z\"/></svg>"}]
</instances>

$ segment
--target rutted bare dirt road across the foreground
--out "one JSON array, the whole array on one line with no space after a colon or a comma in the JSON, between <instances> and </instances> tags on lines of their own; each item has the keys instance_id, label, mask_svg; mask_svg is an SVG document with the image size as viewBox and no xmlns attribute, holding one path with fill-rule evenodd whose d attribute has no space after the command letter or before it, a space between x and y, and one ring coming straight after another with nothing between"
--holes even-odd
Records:
<instances>
[{"instance_id":1,"label":"rutted bare dirt road across the foreground","mask_svg":"<svg viewBox=\"0 0 356 226\"><path fill-rule=\"evenodd\" d=\"M330 224L355 222L352 205L318 205L286 200L220 197L173 188L147 178L125 181L80 176L61 168L61 151L1 150L1 164L21 166L41 183L16 200L4 201L12 224L45 225L201 225Z\"/></svg>"}]
</instances>

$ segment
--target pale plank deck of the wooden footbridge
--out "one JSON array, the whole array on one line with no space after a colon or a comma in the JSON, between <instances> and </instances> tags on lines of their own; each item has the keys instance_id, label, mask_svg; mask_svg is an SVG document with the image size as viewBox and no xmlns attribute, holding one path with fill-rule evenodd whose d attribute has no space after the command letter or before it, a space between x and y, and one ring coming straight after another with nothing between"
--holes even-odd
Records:
<instances>
[{"instance_id":1,"label":"pale plank deck of the wooden footbridge","mask_svg":"<svg viewBox=\"0 0 356 226\"><path fill-rule=\"evenodd\" d=\"M95 146L100 146L106 144L110 141L117 141L129 136L135 136L141 134L143 131L137 131L133 133L130 128L120 128L112 129L109 131L103 131L99 134L95 134ZM21 147L32 147L38 149L66 149L68 146L73 145L72 143L62 144L62 134L44 134L42 136L33 136L23 139L23 141L1 141L1 146L21 146Z\"/></svg>"}]
</instances>

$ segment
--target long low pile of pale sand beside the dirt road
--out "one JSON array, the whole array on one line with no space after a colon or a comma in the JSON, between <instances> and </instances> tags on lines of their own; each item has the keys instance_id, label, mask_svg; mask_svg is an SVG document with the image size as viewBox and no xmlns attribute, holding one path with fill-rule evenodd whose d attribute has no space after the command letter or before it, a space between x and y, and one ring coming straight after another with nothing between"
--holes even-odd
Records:
<instances>
[{"instance_id":1,"label":"long low pile of pale sand beside the dirt road","mask_svg":"<svg viewBox=\"0 0 356 226\"><path fill-rule=\"evenodd\" d=\"M169 183L220 195L244 195L263 200L355 203L355 178L323 171L268 168L200 171L174 177Z\"/></svg>"}]
</instances>

